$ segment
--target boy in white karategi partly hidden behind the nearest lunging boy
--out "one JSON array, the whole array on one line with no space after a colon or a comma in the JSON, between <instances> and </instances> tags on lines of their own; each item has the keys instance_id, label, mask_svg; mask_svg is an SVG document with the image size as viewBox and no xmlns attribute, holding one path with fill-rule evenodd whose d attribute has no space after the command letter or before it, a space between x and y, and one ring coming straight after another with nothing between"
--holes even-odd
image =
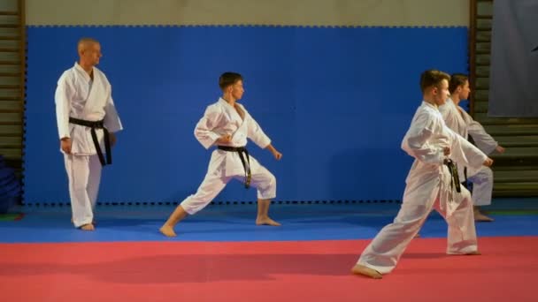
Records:
<instances>
[{"instance_id":1,"label":"boy in white karategi partly hidden behind the nearest lunging boy","mask_svg":"<svg viewBox=\"0 0 538 302\"><path fill-rule=\"evenodd\" d=\"M451 75L449 91L450 98L444 105L439 106L439 111L441 111L445 124L465 140L469 140L469 136L471 136L476 147L485 154L490 155L494 151L503 153L504 148L499 146L484 127L473 120L473 117L459 106L459 102L467 100L471 92L467 76L460 73ZM493 218L480 212L481 206L491 204L491 193L493 191L492 170L484 166L478 170L458 166L457 170L459 171L460 180L464 181L466 177L467 181L473 183L474 220L477 222L493 222Z\"/></svg>"}]
</instances>

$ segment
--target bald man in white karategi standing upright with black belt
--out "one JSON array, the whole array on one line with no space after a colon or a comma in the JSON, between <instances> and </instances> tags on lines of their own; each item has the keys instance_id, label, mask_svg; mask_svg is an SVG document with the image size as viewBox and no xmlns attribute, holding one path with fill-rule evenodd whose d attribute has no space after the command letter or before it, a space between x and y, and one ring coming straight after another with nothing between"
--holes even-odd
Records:
<instances>
[{"instance_id":1,"label":"bald man in white karategi standing upright with black belt","mask_svg":"<svg viewBox=\"0 0 538 302\"><path fill-rule=\"evenodd\" d=\"M111 163L114 132L123 127L112 101L111 84L95 67L102 57L101 44L83 38L77 48L79 62L58 79L56 115L69 179L72 222L81 230L95 230L94 208L102 166Z\"/></svg>"}]
</instances>

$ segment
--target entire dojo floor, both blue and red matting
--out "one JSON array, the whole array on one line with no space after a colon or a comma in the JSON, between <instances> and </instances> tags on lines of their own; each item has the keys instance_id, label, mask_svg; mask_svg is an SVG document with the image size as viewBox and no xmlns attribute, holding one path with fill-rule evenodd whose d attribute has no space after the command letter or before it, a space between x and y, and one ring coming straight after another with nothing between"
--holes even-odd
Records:
<instances>
[{"instance_id":1,"label":"entire dojo floor, both blue and red matting","mask_svg":"<svg viewBox=\"0 0 538 302\"><path fill-rule=\"evenodd\" d=\"M281 227L254 225L254 204L211 205L158 227L173 205L100 205L97 230L68 207L21 207L0 221L2 301L534 301L538 200L498 199L477 223L481 256L448 256L432 214L382 280L350 275L397 203L273 204Z\"/></svg>"}]
</instances>

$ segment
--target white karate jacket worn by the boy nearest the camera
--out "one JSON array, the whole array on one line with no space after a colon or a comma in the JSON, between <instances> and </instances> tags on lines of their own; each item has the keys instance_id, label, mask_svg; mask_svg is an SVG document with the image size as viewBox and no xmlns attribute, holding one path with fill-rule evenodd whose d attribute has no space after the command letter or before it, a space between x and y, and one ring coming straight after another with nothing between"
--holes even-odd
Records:
<instances>
[{"instance_id":1,"label":"white karate jacket worn by the boy nearest the camera","mask_svg":"<svg viewBox=\"0 0 538 302\"><path fill-rule=\"evenodd\" d=\"M450 147L450 155L443 153ZM442 119L441 112L432 104L422 102L412 119L411 127L404 136L402 148L415 158L406 178L404 202L425 204L439 195L440 208L447 217L461 201L455 184L450 185L450 172L443 164L450 158L459 167L479 169L488 158L480 149L450 130Z\"/></svg>"}]
</instances>

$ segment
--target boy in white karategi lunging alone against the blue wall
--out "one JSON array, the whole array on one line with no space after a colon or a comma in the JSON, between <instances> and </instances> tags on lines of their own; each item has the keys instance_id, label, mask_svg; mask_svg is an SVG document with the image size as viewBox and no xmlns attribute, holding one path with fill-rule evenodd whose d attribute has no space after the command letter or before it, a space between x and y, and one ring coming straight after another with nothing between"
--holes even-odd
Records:
<instances>
[{"instance_id":1,"label":"boy in white karategi lunging alone against the blue wall","mask_svg":"<svg viewBox=\"0 0 538 302\"><path fill-rule=\"evenodd\" d=\"M282 155L265 135L256 120L238 101L244 93L242 76L225 72L219 78L222 97L205 109L204 117L195 128L195 137L206 149L216 146L204 181L195 194L188 196L175 208L160 228L167 237L176 236L173 228L187 215L194 215L205 208L232 179L238 179L257 188L256 224L281 225L268 215L271 200L276 196L276 178L257 160L250 156L247 138L258 147L269 150L276 160Z\"/></svg>"}]
</instances>

